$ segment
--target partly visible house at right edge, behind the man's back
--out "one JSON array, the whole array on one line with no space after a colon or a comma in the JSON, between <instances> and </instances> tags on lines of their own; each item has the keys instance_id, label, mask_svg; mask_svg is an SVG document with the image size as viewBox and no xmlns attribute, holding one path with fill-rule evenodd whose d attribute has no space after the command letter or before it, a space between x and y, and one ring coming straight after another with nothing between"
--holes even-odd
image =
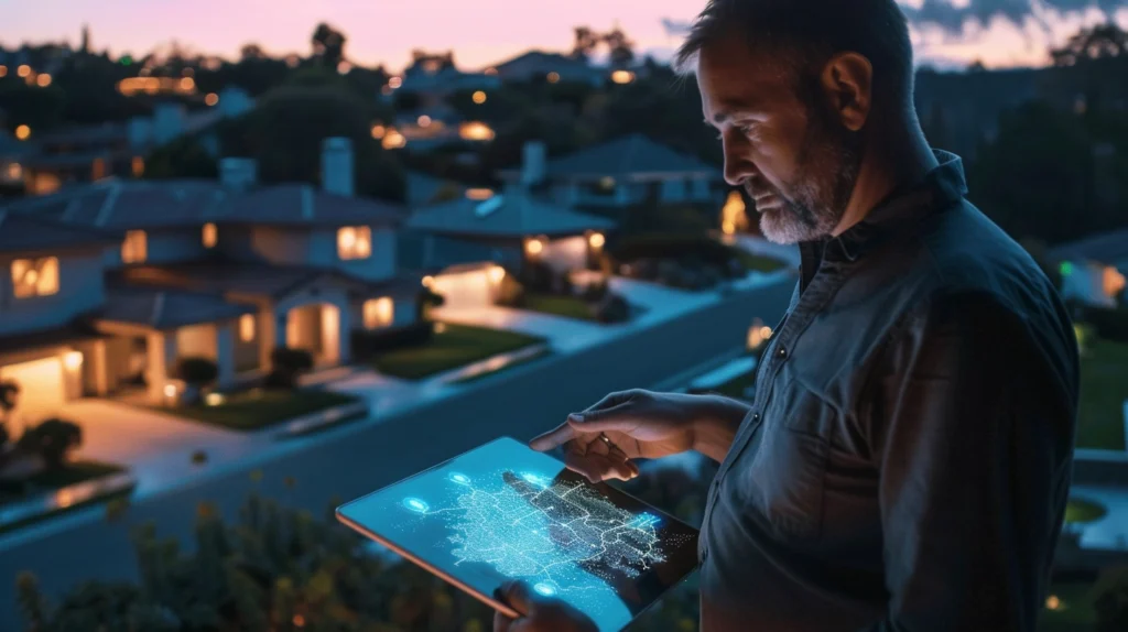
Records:
<instances>
[{"instance_id":1,"label":"partly visible house at right edge, behind the man's back","mask_svg":"<svg viewBox=\"0 0 1128 632\"><path fill-rule=\"evenodd\" d=\"M1128 229L1105 232L1050 251L1061 273L1061 295L1084 304L1114 308L1128 300Z\"/></svg>"}]
</instances>

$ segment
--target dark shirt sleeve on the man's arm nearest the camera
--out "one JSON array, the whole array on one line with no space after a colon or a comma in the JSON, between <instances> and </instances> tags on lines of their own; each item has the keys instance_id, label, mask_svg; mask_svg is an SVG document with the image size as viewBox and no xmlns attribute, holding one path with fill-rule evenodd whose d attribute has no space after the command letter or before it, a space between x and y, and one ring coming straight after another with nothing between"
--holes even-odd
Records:
<instances>
[{"instance_id":1,"label":"dark shirt sleeve on the man's arm nearest the camera","mask_svg":"<svg viewBox=\"0 0 1128 632\"><path fill-rule=\"evenodd\" d=\"M1034 631L1072 468L1060 340L977 295L929 301L890 340L869 430L889 609L867 631Z\"/></svg>"}]
</instances>

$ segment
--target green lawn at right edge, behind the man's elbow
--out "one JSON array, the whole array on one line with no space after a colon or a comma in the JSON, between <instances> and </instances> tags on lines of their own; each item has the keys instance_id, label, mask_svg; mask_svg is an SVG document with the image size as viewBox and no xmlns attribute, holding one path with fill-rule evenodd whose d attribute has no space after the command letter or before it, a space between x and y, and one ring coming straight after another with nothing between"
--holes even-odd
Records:
<instances>
[{"instance_id":1,"label":"green lawn at right edge, behind the man's elbow","mask_svg":"<svg viewBox=\"0 0 1128 632\"><path fill-rule=\"evenodd\" d=\"M1081 358L1077 447L1125 449L1128 344L1093 339Z\"/></svg>"}]
</instances>

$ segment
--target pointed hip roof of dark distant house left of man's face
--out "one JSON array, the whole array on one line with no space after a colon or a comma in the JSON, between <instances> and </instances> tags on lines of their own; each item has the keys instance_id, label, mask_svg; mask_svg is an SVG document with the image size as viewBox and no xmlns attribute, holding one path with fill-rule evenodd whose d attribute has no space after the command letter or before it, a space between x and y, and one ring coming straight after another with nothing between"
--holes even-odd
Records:
<instances>
[{"instance_id":1,"label":"pointed hip roof of dark distant house left of man's face","mask_svg":"<svg viewBox=\"0 0 1128 632\"><path fill-rule=\"evenodd\" d=\"M716 167L642 134L622 136L550 160L546 172L550 178L629 178L663 173L720 177Z\"/></svg>"}]
</instances>

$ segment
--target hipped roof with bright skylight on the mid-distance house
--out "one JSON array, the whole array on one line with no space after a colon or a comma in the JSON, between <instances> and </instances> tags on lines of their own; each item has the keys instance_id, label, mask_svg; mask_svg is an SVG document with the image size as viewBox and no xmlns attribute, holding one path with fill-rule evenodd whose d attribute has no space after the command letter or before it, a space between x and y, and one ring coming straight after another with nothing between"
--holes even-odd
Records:
<instances>
[{"instance_id":1,"label":"hipped roof with bright skylight on the mid-distance house","mask_svg":"<svg viewBox=\"0 0 1128 632\"><path fill-rule=\"evenodd\" d=\"M559 237L608 230L615 222L540 202L520 190L485 201L456 199L416 211L407 220L416 230L473 237Z\"/></svg>"}]
</instances>

